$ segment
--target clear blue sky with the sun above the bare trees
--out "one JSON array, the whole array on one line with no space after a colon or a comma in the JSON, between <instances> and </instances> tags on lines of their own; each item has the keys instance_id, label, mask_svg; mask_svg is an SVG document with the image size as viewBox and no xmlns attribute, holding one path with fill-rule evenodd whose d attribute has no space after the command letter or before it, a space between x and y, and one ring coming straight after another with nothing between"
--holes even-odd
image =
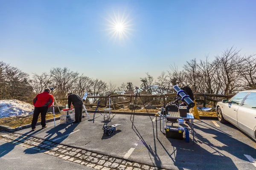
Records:
<instances>
[{"instance_id":1,"label":"clear blue sky with the sun above the bare trees","mask_svg":"<svg viewBox=\"0 0 256 170\"><path fill-rule=\"evenodd\" d=\"M234 45L256 53L256 0L0 0L0 60L116 85ZM117 36L115 34L117 33ZM125 34L124 34L125 33Z\"/></svg>"}]
</instances>

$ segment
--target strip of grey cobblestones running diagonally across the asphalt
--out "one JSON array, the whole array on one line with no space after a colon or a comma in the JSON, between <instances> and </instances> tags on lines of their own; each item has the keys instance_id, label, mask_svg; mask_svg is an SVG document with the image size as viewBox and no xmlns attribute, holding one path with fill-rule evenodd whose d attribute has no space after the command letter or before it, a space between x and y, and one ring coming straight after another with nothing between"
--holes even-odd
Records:
<instances>
[{"instance_id":1,"label":"strip of grey cobblestones running diagonally across the asphalt","mask_svg":"<svg viewBox=\"0 0 256 170\"><path fill-rule=\"evenodd\" d=\"M147 164L113 158L18 133L6 133L0 136L0 140L55 156L60 159L72 161L96 170L164 170Z\"/></svg>"}]
</instances>

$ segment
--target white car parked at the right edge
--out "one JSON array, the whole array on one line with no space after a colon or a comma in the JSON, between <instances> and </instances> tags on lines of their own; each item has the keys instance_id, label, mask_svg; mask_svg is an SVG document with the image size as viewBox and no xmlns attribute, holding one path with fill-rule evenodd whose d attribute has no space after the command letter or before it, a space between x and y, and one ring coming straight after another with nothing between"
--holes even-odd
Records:
<instances>
[{"instance_id":1,"label":"white car parked at the right edge","mask_svg":"<svg viewBox=\"0 0 256 170\"><path fill-rule=\"evenodd\" d=\"M241 91L216 106L218 120L232 123L256 140L256 90Z\"/></svg>"}]
</instances>

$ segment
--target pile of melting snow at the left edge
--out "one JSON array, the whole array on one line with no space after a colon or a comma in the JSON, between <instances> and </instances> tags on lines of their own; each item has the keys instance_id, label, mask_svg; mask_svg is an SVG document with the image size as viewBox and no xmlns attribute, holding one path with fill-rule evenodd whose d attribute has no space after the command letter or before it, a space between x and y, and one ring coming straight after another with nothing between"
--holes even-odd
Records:
<instances>
[{"instance_id":1,"label":"pile of melting snow at the left edge","mask_svg":"<svg viewBox=\"0 0 256 170\"><path fill-rule=\"evenodd\" d=\"M34 106L19 100L0 100L0 118L32 114Z\"/></svg>"}]
</instances>

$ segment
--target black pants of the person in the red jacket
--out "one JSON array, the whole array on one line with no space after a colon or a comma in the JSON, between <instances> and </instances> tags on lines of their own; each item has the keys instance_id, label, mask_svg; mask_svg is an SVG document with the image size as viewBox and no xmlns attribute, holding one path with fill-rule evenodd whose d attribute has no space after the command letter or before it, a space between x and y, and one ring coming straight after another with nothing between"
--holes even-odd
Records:
<instances>
[{"instance_id":1,"label":"black pants of the person in the red jacket","mask_svg":"<svg viewBox=\"0 0 256 170\"><path fill-rule=\"evenodd\" d=\"M35 129L35 125L38 121L38 116L39 116L40 113L41 113L41 125L42 125L42 127L45 127L45 125L46 125L45 117L46 117L47 110L48 110L47 106L35 107L35 110L34 110L34 113L33 113L32 123L31 123L32 129Z\"/></svg>"}]
</instances>

